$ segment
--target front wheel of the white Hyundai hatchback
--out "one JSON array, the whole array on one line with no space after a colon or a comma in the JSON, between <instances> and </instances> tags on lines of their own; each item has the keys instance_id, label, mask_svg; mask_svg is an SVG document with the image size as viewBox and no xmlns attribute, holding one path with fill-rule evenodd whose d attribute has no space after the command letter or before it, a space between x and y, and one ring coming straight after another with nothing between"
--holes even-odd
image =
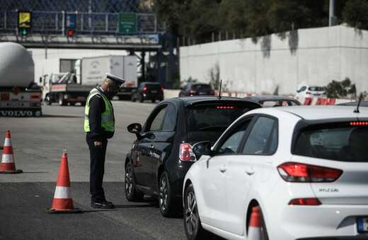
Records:
<instances>
[{"instance_id":1,"label":"front wheel of the white Hyundai hatchback","mask_svg":"<svg viewBox=\"0 0 368 240\"><path fill-rule=\"evenodd\" d=\"M187 239L207 239L208 232L202 228L198 214L197 200L192 184L184 193L184 228Z\"/></svg>"}]
</instances>

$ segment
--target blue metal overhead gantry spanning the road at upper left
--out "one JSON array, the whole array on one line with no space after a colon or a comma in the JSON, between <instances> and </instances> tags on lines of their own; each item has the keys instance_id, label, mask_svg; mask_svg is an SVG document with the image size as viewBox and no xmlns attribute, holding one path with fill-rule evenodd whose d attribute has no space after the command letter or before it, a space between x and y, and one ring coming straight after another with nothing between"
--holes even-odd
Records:
<instances>
[{"instance_id":1,"label":"blue metal overhead gantry spanning the road at upper left","mask_svg":"<svg viewBox=\"0 0 368 240\"><path fill-rule=\"evenodd\" d=\"M0 1L0 41L19 42L25 47L157 48L165 26L158 23L150 1ZM18 11L31 11L28 35L18 32ZM119 32L120 13L137 15L137 31ZM76 16L76 28L67 35L65 17Z\"/></svg>"}]
</instances>

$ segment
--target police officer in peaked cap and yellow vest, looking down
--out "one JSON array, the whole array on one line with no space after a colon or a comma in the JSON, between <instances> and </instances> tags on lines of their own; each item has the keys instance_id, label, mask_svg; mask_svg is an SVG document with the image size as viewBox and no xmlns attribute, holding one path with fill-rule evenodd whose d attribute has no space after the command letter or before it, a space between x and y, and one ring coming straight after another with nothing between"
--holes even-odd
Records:
<instances>
[{"instance_id":1,"label":"police officer in peaked cap and yellow vest, looking down","mask_svg":"<svg viewBox=\"0 0 368 240\"><path fill-rule=\"evenodd\" d=\"M84 112L84 131L91 158L90 191L92 208L115 208L103 191L105 154L108 138L113 138L115 119L110 100L117 94L124 79L106 73L103 84L93 88L87 97Z\"/></svg>"}]
</instances>

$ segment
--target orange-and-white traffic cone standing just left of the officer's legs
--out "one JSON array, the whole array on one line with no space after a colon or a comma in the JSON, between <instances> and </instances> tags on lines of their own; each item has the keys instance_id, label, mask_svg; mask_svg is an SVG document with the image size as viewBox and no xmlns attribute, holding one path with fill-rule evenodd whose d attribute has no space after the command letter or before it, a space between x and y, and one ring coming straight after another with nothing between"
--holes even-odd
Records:
<instances>
[{"instance_id":1,"label":"orange-and-white traffic cone standing just left of the officer's legs","mask_svg":"<svg viewBox=\"0 0 368 240\"><path fill-rule=\"evenodd\" d=\"M70 193L70 179L67 150L62 154L62 164L60 166L59 177L54 195L52 208L47 209L48 213L79 213L81 210L73 207L73 199Z\"/></svg>"}]
</instances>

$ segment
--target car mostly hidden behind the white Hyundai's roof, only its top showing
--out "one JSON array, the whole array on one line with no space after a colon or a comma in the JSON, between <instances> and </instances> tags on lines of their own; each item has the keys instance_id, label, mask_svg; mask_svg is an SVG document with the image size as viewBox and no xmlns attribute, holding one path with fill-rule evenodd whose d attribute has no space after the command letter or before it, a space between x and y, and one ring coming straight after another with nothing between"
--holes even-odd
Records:
<instances>
[{"instance_id":1,"label":"car mostly hidden behind the white Hyundai's roof, only its top showing","mask_svg":"<svg viewBox=\"0 0 368 240\"><path fill-rule=\"evenodd\" d=\"M290 107L302 105L298 100L292 97L259 95L244 98L258 102L262 107Z\"/></svg>"}]
</instances>

